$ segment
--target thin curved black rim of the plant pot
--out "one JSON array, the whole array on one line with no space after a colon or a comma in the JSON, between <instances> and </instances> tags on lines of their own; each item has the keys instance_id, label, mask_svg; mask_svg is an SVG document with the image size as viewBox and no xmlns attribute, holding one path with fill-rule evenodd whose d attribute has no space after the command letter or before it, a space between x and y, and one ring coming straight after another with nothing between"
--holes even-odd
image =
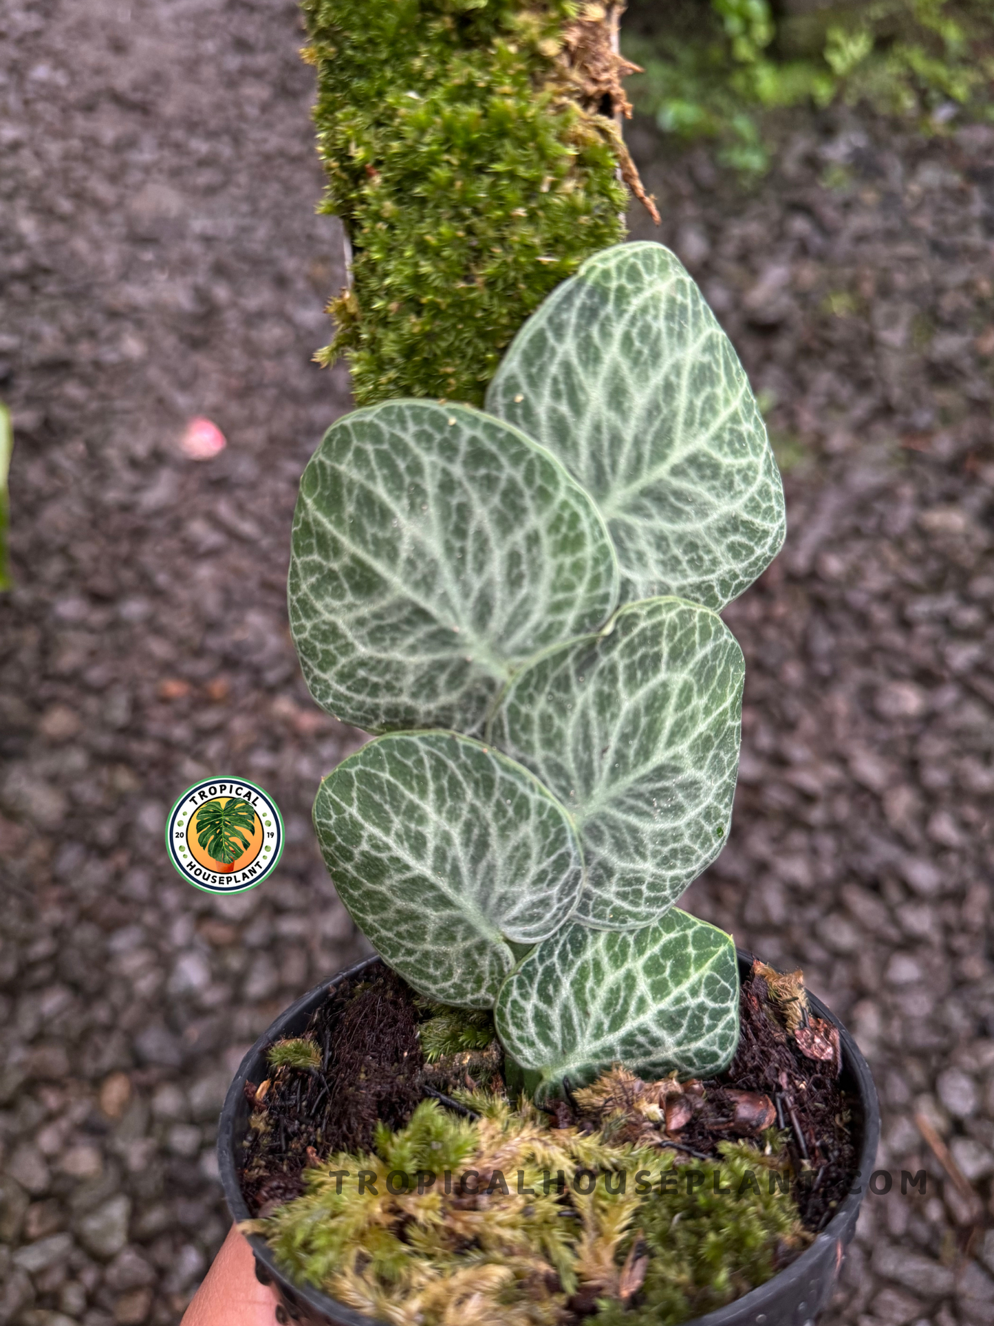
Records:
<instances>
[{"instance_id":1,"label":"thin curved black rim of the plant pot","mask_svg":"<svg viewBox=\"0 0 994 1326\"><path fill-rule=\"evenodd\" d=\"M744 967L751 968L753 953L742 948L736 948L736 953L738 956L740 973ZM248 1079L249 1065L260 1054L262 1054L273 1044L273 1041L280 1038L282 1034L281 1029L288 1021L302 1012L313 1010L318 1006L321 996L327 996L346 977L355 976L358 972L362 972L367 967L379 961L383 961L383 959L378 953L372 953L368 957L363 957L360 961L354 963L351 967L337 972L330 980L321 981L313 989L307 991L306 994L301 994L300 998L294 1000L293 1004L284 1009L284 1012L274 1018L273 1022L270 1022L252 1049L243 1057L239 1070L228 1087L228 1094L224 1098L217 1134L217 1167L221 1187L224 1188L228 1211L236 1223L252 1219L252 1213L249 1212L241 1193L239 1167L235 1160L235 1116L237 1106L245 1099L244 1085ZM827 1018L834 1026L838 1026L839 1040L842 1042L843 1071L848 1069L852 1074L856 1095L863 1107L863 1135L859 1143L859 1167L854 1176L852 1187L847 1192L846 1197L839 1203L838 1211L824 1229L815 1236L810 1246L807 1246L795 1261L793 1261L789 1266L785 1266L783 1270L778 1272L771 1280L767 1280L765 1285L750 1289L747 1294L742 1294L741 1298L736 1298L730 1303L725 1303L724 1307L717 1307L714 1311L705 1313L704 1317L694 1317L687 1321L684 1326L726 1326L726 1323L733 1319L740 1321L744 1311L750 1313L753 1321L757 1322L758 1326L763 1326L771 1310L775 1307L778 1298L783 1293L783 1288L786 1285L804 1282L814 1273L816 1265L824 1254L826 1244L836 1244L836 1270L842 1264L846 1244L850 1241L851 1229L855 1225L855 1213L867 1192L869 1177L873 1171L873 1162L876 1160L877 1144L880 1142L880 1105L877 1101L876 1086L873 1085L873 1077L869 1071L869 1065L863 1058L863 1054L860 1053L852 1036L847 1032L839 1018L835 1017L831 1009L826 1008L826 1005L822 1004L822 1001L810 991L808 1000L811 1002L812 1012L818 1017ZM300 1285L290 1280L286 1272L281 1270L277 1265L272 1249L261 1235L249 1235L248 1241L252 1245L256 1260L266 1268L273 1281L277 1285L285 1284L292 1289L293 1294L298 1299L307 1303L309 1307L313 1307L315 1311L322 1313L326 1317L331 1314L333 1319L339 1322L341 1326L371 1326L371 1323L375 1322L375 1318L366 1315L366 1313L359 1313L354 1307L349 1307L346 1303L339 1303L338 1299L331 1298L329 1294L323 1293L323 1290L314 1289L311 1285Z\"/></svg>"}]
</instances>

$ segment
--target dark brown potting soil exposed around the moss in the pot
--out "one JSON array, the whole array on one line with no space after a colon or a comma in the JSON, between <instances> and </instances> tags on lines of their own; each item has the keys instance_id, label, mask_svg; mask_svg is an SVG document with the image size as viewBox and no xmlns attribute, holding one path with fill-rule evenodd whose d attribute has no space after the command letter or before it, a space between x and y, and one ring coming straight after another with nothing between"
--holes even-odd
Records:
<instances>
[{"instance_id":1,"label":"dark brown potting soil exposed around the moss in the pot","mask_svg":"<svg viewBox=\"0 0 994 1326\"><path fill-rule=\"evenodd\" d=\"M730 1067L701 1083L689 1118L679 1131L671 1127L661 1144L690 1164L714 1160L720 1143L755 1140L775 1123L798 1176L794 1193L802 1223L818 1232L846 1196L856 1170L852 1101L838 1077L838 1041L834 1057L802 1053L782 1002L771 998L757 968L742 983L740 1014L740 1044ZM395 972L374 967L342 981L313 1014L306 1034L321 1050L319 1069L281 1067L266 1082L245 1085L262 1124L250 1131L241 1170L253 1216L298 1196L307 1164L337 1151L370 1150L378 1122L400 1128L421 1101L433 1097L447 1103L447 1089L502 1083L501 1059L493 1052L425 1063L417 1024L428 1016ZM816 1020L802 1021L802 1040L807 1034L810 1048L814 1033L826 1028ZM815 1041L814 1048L830 1054L823 1042ZM569 1097L550 1103L550 1126L592 1128L571 1091Z\"/></svg>"}]
</instances>

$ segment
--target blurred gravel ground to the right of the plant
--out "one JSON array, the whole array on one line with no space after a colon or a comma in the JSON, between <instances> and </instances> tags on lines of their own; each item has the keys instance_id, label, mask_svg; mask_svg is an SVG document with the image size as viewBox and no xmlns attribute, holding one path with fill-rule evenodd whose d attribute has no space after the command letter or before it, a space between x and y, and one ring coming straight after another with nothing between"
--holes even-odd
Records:
<instances>
[{"instance_id":1,"label":"blurred gravel ground to the right of the plant","mask_svg":"<svg viewBox=\"0 0 994 1326\"><path fill-rule=\"evenodd\" d=\"M634 147L787 488L786 549L725 614L746 655L736 821L687 906L803 965L873 1067L895 1188L864 1203L834 1319L990 1323L994 129L926 143L824 117L751 195L702 152ZM916 1114L975 1209L942 1196ZM922 1167L925 1196L901 1196Z\"/></svg>"}]
</instances>

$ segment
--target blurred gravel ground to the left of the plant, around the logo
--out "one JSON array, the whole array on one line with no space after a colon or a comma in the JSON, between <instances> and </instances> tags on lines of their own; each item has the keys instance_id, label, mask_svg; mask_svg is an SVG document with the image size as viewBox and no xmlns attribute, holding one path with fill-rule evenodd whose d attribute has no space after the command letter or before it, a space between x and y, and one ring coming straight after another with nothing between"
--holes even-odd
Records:
<instances>
[{"instance_id":1,"label":"blurred gravel ground to the left of the plant, around the logo","mask_svg":"<svg viewBox=\"0 0 994 1326\"><path fill-rule=\"evenodd\" d=\"M300 472L349 404L310 363L342 280L311 80L290 3L138 15L0 19L0 1322L23 1326L179 1319L227 1229L225 1079L359 952L310 827L357 737L309 700L285 610ZM229 439L209 463L176 446L199 414ZM162 830L225 769L288 846L215 900Z\"/></svg>"}]
</instances>

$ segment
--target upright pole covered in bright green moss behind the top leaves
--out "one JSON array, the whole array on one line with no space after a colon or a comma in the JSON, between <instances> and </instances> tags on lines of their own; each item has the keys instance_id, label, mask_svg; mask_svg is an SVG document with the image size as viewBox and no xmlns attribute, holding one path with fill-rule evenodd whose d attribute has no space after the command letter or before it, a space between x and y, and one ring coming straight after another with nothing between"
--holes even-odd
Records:
<instances>
[{"instance_id":1,"label":"upright pole covered in bright green moss behind the top leaves","mask_svg":"<svg viewBox=\"0 0 994 1326\"><path fill-rule=\"evenodd\" d=\"M323 212L351 288L331 345L359 404L481 403L525 318L624 236L619 5L304 0Z\"/></svg>"}]
</instances>

